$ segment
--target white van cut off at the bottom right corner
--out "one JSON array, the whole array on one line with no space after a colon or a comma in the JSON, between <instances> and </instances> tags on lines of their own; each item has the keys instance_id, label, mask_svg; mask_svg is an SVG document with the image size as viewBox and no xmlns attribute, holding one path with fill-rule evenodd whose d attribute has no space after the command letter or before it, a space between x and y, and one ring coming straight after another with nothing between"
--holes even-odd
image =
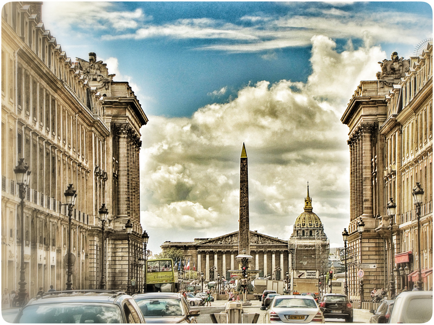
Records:
<instances>
[{"instance_id":1,"label":"white van cut off at the bottom right corner","mask_svg":"<svg viewBox=\"0 0 434 325\"><path fill-rule=\"evenodd\" d=\"M395 298L389 320L378 317L378 323L426 323L433 314L432 291L406 291Z\"/></svg>"}]
</instances>

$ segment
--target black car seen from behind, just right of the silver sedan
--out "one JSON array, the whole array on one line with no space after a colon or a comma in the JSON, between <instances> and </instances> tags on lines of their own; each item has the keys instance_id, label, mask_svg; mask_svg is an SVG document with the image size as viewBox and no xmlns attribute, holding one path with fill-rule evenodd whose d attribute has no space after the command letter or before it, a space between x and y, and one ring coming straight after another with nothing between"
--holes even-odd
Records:
<instances>
[{"instance_id":1,"label":"black car seen from behind, just right of the silver sedan","mask_svg":"<svg viewBox=\"0 0 434 325\"><path fill-rule=\"evenodd\" d=\"M319 307L324 309L324 318L345 318L345 322L350 323L353 321L352 305L344 294L325 293L319 300Z\"/></svg>"}]
</instances>

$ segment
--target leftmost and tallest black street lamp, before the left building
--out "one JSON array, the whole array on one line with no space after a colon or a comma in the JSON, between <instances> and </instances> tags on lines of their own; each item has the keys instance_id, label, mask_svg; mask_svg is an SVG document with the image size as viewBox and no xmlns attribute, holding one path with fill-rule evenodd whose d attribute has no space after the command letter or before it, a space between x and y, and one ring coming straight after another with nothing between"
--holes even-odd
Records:
<instances>
[{"instance_id":1,"label":"leftmost and tallest black street lamp, before the left building","mask_svg":"<svg viewBox=\"0 0 434 325\"><path fill-rule=\"evenodd\" d=\"M3 143L4 145L4 143ZM29 166L24 162L24 158L18 160L18 166L13 169L16 177L16 184L18 184L18 194L21 202L21 267L20 267L20 290L18 296L20 297L20 306L24 305L26 300L26 269L24 268L24 198L26 198L26 187L29 185L30 170Z\"/></svg>"}]
</instances>

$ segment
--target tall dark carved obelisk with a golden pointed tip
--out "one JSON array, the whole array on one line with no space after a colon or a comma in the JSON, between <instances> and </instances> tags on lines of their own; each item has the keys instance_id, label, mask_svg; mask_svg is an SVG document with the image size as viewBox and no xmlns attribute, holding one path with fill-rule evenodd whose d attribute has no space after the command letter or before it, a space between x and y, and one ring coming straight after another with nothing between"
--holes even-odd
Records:
<instances>
[{"instance_id":1,"label":"tall dark carved obelisk with a golden pointed tip","mask_svg":"<svg viewBox=\"0 0 434 325\"><path fill-rule=\"evenodd\" d=\"M247 175L247 153L243 143L240 157L240 228L238 231L238 254L250 255L249 241L249 179ZM245 252L244 252L245 250Z\"/></svg>"}]
</instances>

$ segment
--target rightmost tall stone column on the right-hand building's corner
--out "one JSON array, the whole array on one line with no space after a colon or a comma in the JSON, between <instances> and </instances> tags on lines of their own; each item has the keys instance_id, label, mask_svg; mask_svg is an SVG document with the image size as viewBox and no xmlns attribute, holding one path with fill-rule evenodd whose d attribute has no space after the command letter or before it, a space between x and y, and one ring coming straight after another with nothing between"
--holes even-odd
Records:
<instances>
[{"instance_id":1,"label":"rightmost tall stone column on the right-hand building's corner","mask_svg":"<svg viewBox=\"0 0 434 325\"><path fill-rule=\"evenodd\" d=\"M372 155L371 155L371 133L373 126L363 125L362 146L363 146L363 215L372 216Z\"/></svg>"}]
</instances>

